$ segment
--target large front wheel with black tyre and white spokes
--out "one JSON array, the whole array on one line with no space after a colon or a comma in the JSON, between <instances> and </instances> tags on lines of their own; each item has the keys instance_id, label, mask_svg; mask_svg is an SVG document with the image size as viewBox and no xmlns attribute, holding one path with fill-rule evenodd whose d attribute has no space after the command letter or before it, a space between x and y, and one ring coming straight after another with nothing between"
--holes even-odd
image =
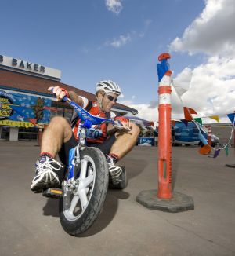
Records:
<instances>
[{"instance_id":1,"label":"large front wheel with black tyre and white spokes","mask_svg":"<svg viewBox=\"0 0 235 256\"><path fill-rule=\"evenodd\" d=\"M61 225L73 236L89 229L103 209L109 177L107 160L98 148L85 148L80 158L76 188L64 192L59 203Z\"/></svg>"}]
</instances>

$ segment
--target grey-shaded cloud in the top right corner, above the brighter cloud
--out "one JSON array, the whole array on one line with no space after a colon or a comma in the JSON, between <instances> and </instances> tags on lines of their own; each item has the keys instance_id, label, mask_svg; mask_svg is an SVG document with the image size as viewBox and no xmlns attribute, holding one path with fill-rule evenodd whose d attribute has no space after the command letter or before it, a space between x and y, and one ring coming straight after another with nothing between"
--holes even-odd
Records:
<instances>
[{"instance_id":1,"label":"grey-shaded cloud in the top right corner, above the brighter cloud","mask_svg":"<svg viewBox=\"0 0 235 256\"><path fill-rule=\"evenodd\" d=\"M170 49L235 56L234 26L234 0L207 0L201 15L186 28L182 38L175 38Z\"/></svg>"}]
</instances>

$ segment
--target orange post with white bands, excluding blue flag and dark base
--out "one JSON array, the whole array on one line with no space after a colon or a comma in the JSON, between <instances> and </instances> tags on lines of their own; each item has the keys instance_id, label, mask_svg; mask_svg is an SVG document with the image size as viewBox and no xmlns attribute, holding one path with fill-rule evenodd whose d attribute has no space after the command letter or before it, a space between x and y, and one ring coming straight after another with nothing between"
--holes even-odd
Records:
<instances>
[{"instance_id":1,"label":"orange post with white bands, excluding blue flag and dark base","mask_svg":"<svg viewBox=\"0 0 235 256\"><path fill-rule=\"evenodd\" d=\"M158 60L169 59L168 53L162 53ZM171 127L171 74L164 73L158 87L158 191L160 199L172 198L172 127Z\"/></svg>"}]
</instances>

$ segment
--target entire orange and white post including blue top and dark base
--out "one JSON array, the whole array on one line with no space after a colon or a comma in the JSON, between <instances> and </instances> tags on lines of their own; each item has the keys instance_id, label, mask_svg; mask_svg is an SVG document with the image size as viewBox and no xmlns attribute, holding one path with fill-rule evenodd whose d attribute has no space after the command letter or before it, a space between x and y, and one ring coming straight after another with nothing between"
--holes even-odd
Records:
<instances>
[{"instance_id":1,"label":"entire orange and white post including blue top and dark base","mask_svg":"<svg viewBox=\"0 0 235 256\"><path fill-rule=\"evenodd\" d=\"M171 93L172 71L168 64L169 53L162 53L157 64L158 75L158 190L145 190L136 196L136 201L153 210L179 212L193 210L190 196L174 192L172 195L172 123ZM157 195L156 195L157 194Z\"/></svg>"}]
</instances>

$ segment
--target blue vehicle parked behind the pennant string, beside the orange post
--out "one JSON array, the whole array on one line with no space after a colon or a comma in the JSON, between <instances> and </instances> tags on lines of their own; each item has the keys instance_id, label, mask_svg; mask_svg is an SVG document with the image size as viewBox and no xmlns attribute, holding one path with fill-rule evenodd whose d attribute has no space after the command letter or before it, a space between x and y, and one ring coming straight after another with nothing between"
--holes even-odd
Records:
<instances>
[{"instance_id":1,"label":"blue vehicle parked behind the pennant string, beside the orange post","mask_svg":"<svg viewBox=\"0 0 235 256\"><path fill-rule=\"evenodd\" d=\"M201 130L202 135L206 140L208 140L208 129L197 123L197 126ZM172 126L172 131L175 131L174 139L172 140L175 145L190 145L190 144L199 144L201 145L201 141L199 140L199 130L196 124L193 122L185 123L181 121L176 121L175 126ZM211 133L211 146L214 147L216 144L219 144L219 138L215 136L215 134Z\"/></svg>"}]
</instances>

